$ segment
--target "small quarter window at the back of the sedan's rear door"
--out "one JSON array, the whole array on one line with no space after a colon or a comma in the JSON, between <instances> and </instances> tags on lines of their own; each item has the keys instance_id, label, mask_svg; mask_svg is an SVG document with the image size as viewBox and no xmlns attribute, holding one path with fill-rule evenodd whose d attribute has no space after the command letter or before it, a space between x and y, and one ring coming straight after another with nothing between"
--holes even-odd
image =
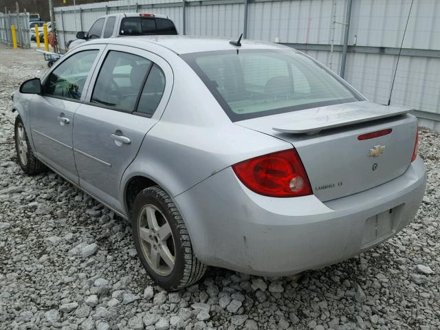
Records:
<instances>
[{"instance_id":1,"label":"small quarter window at the back of the sedan's rear door","mask_svg":"<svg viewBox=\"0 0 440 330\"><path fill-rule=\"evenodd\" d=\"M153 65L151 68L144 89L137 104L136 112L145 113L146 115L153 115L159 105L165 89L165 75L164 72L157 66Z\"/></svg>"}]
</instances>

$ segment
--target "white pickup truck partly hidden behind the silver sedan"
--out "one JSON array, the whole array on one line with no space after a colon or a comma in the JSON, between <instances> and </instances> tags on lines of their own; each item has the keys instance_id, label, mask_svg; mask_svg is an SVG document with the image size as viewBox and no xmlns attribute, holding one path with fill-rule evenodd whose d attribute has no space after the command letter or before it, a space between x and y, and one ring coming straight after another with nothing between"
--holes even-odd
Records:
<instances>
[{"instance_id":1,"label":"white pickup truck partly hidden behind the silver sedan","mask_svg":"<svg viewBox=\"0 0 440 330\"><path fill-rule=\"evenodd\" d=\"M77 32L76 40L66 46L72 50L91 39L152 34L177 34L177 30L173 21L162 14L109 14L97 19L89 32Z\"/></svg>"}]
</instances>

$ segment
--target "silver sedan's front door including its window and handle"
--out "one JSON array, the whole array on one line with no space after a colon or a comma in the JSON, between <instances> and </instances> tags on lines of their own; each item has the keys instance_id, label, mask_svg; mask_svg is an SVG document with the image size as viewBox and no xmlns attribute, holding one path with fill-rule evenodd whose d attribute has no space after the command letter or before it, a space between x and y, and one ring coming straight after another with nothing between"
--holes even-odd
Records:
<instances>
[{"instance_id":1,"label":"silver sedan's front door including its window and handle","mask_svg":"<svg viewBox=\"0 0 440 330\"><path fill-rule=\"evenodd\" d=\"M31 111L36 156L76 184L74 113L83 102L83 91L99 52L99 47L95 47L61 60L43 81L43 94L34 96L36 107Z\"/></svg>"}]
</instances>

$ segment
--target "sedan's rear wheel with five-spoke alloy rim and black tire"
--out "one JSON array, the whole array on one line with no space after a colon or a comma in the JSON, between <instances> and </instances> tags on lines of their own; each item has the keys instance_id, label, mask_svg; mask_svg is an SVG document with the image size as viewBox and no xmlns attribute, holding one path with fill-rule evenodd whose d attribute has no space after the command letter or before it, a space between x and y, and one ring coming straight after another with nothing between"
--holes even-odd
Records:
<instances>
[{"instance_id":1,"label":"sedan's rear wheel with five-spoke alloy rim and black tire","mask_svg":"<svg viewBox=\"0 0 440 330\"><path fill-rule=\"evenodd\" d=\"M150 214L148 217L147 212ZM162 188L152 186L137 195L131 221L137 255L157 285L175 291L196 283L205 274L208 267L192 251L190 236L180 212ZM173 256L173 252L174 259L169 257ZM170 267L172 261L174 264Z\"/></svg>"}]
</instances>

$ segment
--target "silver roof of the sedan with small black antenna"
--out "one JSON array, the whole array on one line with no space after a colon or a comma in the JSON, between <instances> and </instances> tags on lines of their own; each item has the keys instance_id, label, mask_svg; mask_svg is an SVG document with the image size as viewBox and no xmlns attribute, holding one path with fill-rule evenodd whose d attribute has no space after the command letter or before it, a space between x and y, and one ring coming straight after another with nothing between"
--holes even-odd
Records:
<instances>
[{"instance_id":1,"label":"silver roof of the sedan with small black antenna","mask_svg":"<svg viewBox=\"0 0 440 330\"><path fill-rule=\"evenodd\" d=\"M268 43L266 41L256 41L243 39L241 47L233 46L229 43L231 39L212 38L205 36L124 36L124 38L95 39L90 43L114 43L119 45L128 45L148 50L148 44L151 43L165 47L176 54L189 54L199 52L212 52L218 50L261 50L261 49L289 49L291 47Z\"/></svg>"}]
</instances>

